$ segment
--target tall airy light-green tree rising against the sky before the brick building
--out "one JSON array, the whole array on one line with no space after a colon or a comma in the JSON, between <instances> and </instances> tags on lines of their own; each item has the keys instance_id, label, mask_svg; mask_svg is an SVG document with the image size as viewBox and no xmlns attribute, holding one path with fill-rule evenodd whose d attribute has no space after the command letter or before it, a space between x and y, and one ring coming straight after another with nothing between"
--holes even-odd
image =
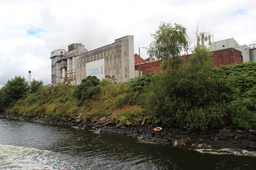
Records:
<instances>
[{"instance_id":1,"label":"tall airy light-green tree rising against the sky before the brick building","mask_svg":"<svg viewBox=\"0 0 256 170\"><path fill-rule=\"evenodd\" d=\"M147 48L148 55L163 60L163 69L174 69L183 63L180 55L188 49L186 28L170 22L160 23L158 28L156 33L152 34L154 41Z\"/></svg>"}]
</instances>

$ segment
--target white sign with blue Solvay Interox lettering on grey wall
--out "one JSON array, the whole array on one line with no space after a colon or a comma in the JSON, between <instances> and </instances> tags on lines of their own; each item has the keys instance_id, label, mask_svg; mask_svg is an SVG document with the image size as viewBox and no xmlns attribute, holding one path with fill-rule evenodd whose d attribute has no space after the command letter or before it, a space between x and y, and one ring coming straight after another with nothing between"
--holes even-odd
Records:
<instances>
[{"instance_id":1,"label":"white sign with blue Solvay Interox lettering on grey wall","mask_svg":"<svg viewBox=\"0 0 256 170\"><path fill-rule=\"evenodd\" d=\"M86 77L87 76L96 76L100 80L105 78L105 59L86 63Z\"/></svg>"}]
</instances>

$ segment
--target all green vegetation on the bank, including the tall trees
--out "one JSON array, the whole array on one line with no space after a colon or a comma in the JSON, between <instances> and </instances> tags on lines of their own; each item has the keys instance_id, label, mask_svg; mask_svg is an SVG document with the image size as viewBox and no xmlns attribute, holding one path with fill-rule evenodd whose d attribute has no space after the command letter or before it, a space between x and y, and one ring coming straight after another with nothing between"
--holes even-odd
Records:
<instances>
[{"instance_id":1,"label":"all green vegetation on the bank, including the tall trees","mask_svg":"<svg viewBox=\"0 0 256 170\"><path fill-rule=\"evenodd\" d=\"M160 25L148 53L164 60L165 71L128 83L116 84L114 76L102 81L88 76L78 86L41 87L42 81L33 80L29 87L24 78L15 77L0 90L1 111L53 119L79 116L84 121L111 114L119 125L146 120L186 129L226 125L256 129L256 63L216 68L205 44L210 37L198 35L193 55L181 62L179 55L187 48L186 29Z\"/></svg>"}]
</instances>

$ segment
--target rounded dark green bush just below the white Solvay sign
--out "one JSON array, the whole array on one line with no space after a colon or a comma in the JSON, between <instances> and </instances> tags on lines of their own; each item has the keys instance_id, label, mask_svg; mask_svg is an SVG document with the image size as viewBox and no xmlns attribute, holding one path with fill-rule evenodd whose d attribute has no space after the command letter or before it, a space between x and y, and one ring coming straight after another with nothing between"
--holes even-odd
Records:
<instances>
[{"instance_id":1,"label":"rounded dark green bush just below the white Solvay sign","mask_svg":"<svg viewBox=\"0 0 256 170\"><path fill-rule=\"evenodd\" d=\"M100 92L100 80L96 76L88 76L82 80L75 91L74 97L78 100L78 105L82 105L85 100L92 98Z\"/></svg>"}]
</instances>

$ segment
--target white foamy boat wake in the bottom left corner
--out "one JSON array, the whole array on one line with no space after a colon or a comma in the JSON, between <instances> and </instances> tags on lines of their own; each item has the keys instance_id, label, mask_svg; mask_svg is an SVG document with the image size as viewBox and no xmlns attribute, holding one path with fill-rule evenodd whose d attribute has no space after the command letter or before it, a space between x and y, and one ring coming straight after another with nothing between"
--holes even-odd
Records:
<instances>
[{"instance_id":1,"label":"white foamy boat wake in the bottom left corner","mask_svg":"<svg viewBox=\"0 0 256 170\"><path fill-rule=\"evenodd\" d=\"M87 169L79 158L48 150L0 145L0 169Z\"/></svg>"}]
</instances>

